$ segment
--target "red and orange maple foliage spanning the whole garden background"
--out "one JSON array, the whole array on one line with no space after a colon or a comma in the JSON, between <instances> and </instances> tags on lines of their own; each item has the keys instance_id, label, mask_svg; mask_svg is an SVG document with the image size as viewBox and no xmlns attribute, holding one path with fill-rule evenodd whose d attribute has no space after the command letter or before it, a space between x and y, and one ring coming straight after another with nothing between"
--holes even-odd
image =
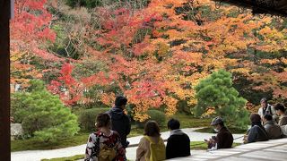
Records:
<instances>
[{"instance_id":1,"label":"red and orange maple foliage spanning the whole garden background","mask_svg":"<svg viewBox=\"0 0 287 161\"><path fill-rule=\"evenodd\" d=\"M199 80L218 69L232 72L233 86L253 104L259 97L286 101L286 20L261 19L230 5L216 9L209 0L152 0L142 8L125 3L86 13L75 8L83 17L69 19L77 20L74 32L65 31L64 18L72 13L56 5L59 1L22 2L16 1L15 10L21 12L12 22L14 68L55 72L48 79L38 76L67 106L111 106L121 94L135 120L147 119L150 108L172 115L179 102L195 107ZM45 3L57 12L49 13ZM48 51L49 43L60 38L51 30L53 21L74 38L66 46L77 49L76 60ZM43 65L30 68L20 61L23 55L41 57Z\"/></svg>"}]
</instances>

